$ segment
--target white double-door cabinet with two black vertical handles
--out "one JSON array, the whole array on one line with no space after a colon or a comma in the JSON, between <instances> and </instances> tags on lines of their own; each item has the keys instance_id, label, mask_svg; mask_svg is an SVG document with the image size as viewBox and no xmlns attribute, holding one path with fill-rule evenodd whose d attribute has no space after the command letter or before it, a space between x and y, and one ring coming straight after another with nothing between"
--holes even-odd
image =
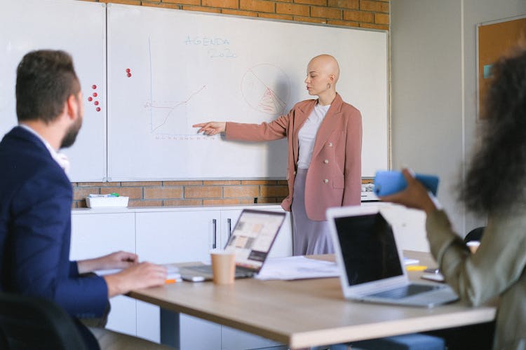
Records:
<instances>
[{"instance_id":1,"label":"white double-door cabinet with two black vertical handles","mask_svg":"<svg viewBox=\"0 0 526 350\"><path fill-rule=\"evenodd\" d=\"M262 209L262 208L258 208ZM273 209L265 209L273 210ZM274 209L283 210L283 209ZM136 214L137 254L156 263L206 261L210 249L227 244L231 230L237 223L242 209L193 209L180 211L147 211ZM276 253L274 253L276 249ZM285 220L276 237L271 255L287 256L292 253L290 223ZM152 317L152 315L154 315ZM137 335L159 341L159 307L137 305ZM144 320L149 321L144 322ZM187 349L259 349L278 345L269 339L250 333L222 327L188 315L179 317L179 344ZM243 340L243 341L241 341ZM222 347L227 344L227 347ZM233 344L242 344L235 347ZM239 345L238 345L239 346Z\"/></svg>"}]
</instances>

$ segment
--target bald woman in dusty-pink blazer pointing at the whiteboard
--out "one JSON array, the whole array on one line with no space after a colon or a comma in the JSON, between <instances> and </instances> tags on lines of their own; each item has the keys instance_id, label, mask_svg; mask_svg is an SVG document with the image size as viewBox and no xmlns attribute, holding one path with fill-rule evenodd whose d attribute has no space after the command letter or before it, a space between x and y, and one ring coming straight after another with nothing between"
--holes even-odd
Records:
<instances>
[{"instance_id":1,"label":"bald woman in dusty-pink blazer pointing at the whiteboard","mask_svg":"<svg viewBox=\"0 0 526 350\"><path fill-rule=\"evenodd\" d=\"M208 122L198 132L227 139L288 139L288 197L281 207L292 210L294 255L334 253L325 210L360 205L362 117L336 92L339 65L319 55L306 69L306 90L317 99L298 102L271 123Z\"/></svg>"}]
</instances>

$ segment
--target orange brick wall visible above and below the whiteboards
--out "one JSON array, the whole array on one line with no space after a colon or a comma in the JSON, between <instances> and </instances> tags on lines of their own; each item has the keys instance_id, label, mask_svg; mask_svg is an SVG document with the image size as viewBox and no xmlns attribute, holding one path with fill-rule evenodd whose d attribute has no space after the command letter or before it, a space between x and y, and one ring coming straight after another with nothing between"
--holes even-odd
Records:
<instances>
[{"instance_id":1,"label":"orange brick wall visible above and below the whiteboards","mask_svg":"<svg viewBox=\"0 0 526 350\"><path fill-rule=\"evenodd\" d=\"M80 0L154 6L175 10L389 29L389 0ZM370 182L364 180L363 182ZM147 181L73 183L73 207L86 207L90 193L119 193L130 207L279 203L288 195L285 180Z\"/></svg>"}]
</instances>

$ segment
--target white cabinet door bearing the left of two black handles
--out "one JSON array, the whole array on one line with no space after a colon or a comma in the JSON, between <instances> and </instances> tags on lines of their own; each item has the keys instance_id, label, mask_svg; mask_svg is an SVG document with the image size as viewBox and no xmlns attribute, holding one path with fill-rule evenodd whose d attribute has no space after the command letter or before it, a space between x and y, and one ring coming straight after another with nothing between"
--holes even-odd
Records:
<instances>
[{"instance_id":1,"label":"white cabinet door bearing the left of two black handles","mask_svg":"<svg viewBox=\"0 0 526 350\"><path fill-rule=\"evenodd\" d=\"M220 211L163 211L136 214L137 254L159 264L210 260L210 249L220 247ZM185 282L186 283L186 282ZM139 304L137 335L159 342L159 307ZM220 349L221 328L216 323L180 315L180 349ZM206 344L205 347L202 347Z\"/></svg>"}]
</instances>

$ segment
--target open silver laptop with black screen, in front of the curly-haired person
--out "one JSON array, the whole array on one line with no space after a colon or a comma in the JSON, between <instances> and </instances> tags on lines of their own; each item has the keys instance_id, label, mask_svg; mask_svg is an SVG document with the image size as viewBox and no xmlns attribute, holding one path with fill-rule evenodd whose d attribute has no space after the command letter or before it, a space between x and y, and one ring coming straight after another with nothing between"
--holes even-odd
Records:
<instances>
[{"instance_id":1,"label":"open silver laptop with black screen, in front of the curly-haired person","mask_svg":"<svg viewBox=\"0 0 526 350\"><path fill-rule=\"evenodd\" d=\"M393 232L399 225L389 223L387 218L396 217L389 210L390 206L328 209L344 297L418 307L457 300L446 284L409 281Z\"/></svg>"}]
</instances>

